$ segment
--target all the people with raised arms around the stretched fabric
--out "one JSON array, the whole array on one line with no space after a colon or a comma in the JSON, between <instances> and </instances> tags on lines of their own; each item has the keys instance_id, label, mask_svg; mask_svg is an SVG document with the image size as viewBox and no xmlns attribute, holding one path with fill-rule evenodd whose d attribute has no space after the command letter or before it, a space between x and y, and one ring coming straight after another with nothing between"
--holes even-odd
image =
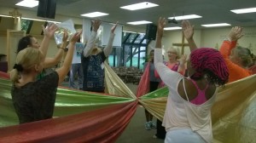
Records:
<instances>
[{"instance_id":1,"label":"all the people with raised arms around the stretched fabric","mask_svg":"<svg viewBox=\"0 0 256 143\"><path fill-rule=\"evenodd\" d=\"M103 62L112 51L117 24L112 27L108 45L104 49L98 49L95 43L100 25L100 20L92 22L90 39L84 49L84 45L78 43L81 31L73 34L68 46L67 32L64 32L61 47L54 58L46 58L46 54L49 40L58 29L55 24L44 27L44 39L40 45L35 37L26 36L20 39L15 66L10 72L13 82L11 95L20 123L53 116L56 89L71 66L72 71L76 71L74 69L78 68L78 63L81 63L80 71L83 75L79 89L104 93ZM163 86L169 89L166 112L163 121L157 121L155 136L165 139L166 143L212 142L211 107L218 89L225 83L253 74L248 70L254 64L252 53L249 49L236 47L237 40L242 37L242 28L233 27L218 51L197 48L193 39L194 27L184 20L183 34L189 43L191 54L187 60L187 55L180 55L177 49L171 48L167 51L168 61L164 62L161 41L165 26L166 19L160 18L155 49L150 52L148 63L145 64L150 78L149 92ZM55 66L61 60L66 47L68 50L63 65L55 72L44 74L44 69ZM75 47L80 47L79 51ZM78 53L80 62L73 61L73 55ZM145 128L154 128L153 116L147 110L145 113Z\"/></svg>"}]
</instances>

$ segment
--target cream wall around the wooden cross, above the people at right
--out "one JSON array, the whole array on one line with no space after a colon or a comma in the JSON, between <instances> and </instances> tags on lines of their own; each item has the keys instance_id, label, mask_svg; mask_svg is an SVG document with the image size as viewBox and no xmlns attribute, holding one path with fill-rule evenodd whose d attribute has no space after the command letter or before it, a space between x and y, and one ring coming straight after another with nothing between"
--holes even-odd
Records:
<instances>
[{"instance_id":1,"label":"cream wall around the wooden cross, above the people at right","mask_svg":"<svg viewBox=\"0 0 256 143\"><path fill-rule=\"evenodd\" d=\"M231 27L225 28L208 28L195 30L194 40L198 47L208 47L219 49L224 38L229 34ZM242 47L251 49L256 54L256 26L243 27L244 36L239 39L238 44ZM172 43L182 42L182 31L165 31L163 46L164 49L172 47ZM186 40L185 40L185 43ZM185 47L185 54L189 54L189 47Z\"/></svg>"}]
</instances>

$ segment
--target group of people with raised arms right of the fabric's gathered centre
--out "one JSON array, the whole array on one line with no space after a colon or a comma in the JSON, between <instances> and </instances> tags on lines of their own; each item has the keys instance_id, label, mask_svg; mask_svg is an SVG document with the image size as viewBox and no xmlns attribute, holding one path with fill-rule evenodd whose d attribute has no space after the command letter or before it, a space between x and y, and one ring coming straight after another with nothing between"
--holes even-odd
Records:
<instances>
[{"instance_id":1,"label":"group of people with raised arms right of the fabric's gathered centre","mask_svg":"<svg viewBox=\"0 0 256 143\"><path fill-rule=\"evenodd\" d=\"M218 89L225 83L235 82L255 73L252 71L255 66L254 55L249 49L236 46L238 39L243 36L240 26L230 30L219 51L211 48L198 49L193 39L194 26L188 20L183 20L183 34L189 43L191 54L187 60L186 55L179 58L175 48L168 49L169 60L166 63L161 50L165 26L166 19L160 18L156 46L149 56L154 65L151 64L149 69L145 68L150 73L150 88L161 88L164 85L169 89L164 119L163 122L157 119L154 137L165 139L166 143L212 142L211 107ZM147 65L148 63L145 66ZM146 112L145 129L150 127L147 114Z\"/></svg>"}]
</instances>

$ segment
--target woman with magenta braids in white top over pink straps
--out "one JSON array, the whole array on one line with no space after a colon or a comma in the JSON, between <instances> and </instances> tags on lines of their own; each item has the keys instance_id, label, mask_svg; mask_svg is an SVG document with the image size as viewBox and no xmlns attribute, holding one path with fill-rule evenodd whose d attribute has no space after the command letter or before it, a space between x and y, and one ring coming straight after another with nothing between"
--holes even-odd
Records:
<instances>
[{"instance_id":1,"label":"woman with magenta braids in white top over pink straps","mask_svg":"<svg viewBox=\"0 0 256 143\"><path fill-rule=\"evenodd\" d=\"M164 26L166 19L160 18L154 66L169 89L162 124L166 128L165 142L212 142L211 108L218 86L228 81L227 66L218 50L195 47L187 61L189 77L173 72L163 64L161 57ZM181 59L179 68L184 68L186 56Z\"/></svg>"}]
</instances>

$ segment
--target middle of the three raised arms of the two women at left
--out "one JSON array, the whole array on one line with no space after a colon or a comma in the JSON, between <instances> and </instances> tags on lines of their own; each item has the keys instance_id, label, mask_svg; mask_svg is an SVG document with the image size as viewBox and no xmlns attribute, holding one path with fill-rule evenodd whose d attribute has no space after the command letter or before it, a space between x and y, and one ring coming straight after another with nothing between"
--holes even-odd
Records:
<instances>
[{"instance_id":1,"label":"middle of the three raised arms of the two women at left","mask_svg":"<svg viewBox=\"0 0 256 143\"><path fill-rule=\"evenodd\" d=\"M63 56L64 51L66 50L66 44L67 44L67 30L64 31L63 33L63 38L62 38L62 43L61 47L58 48L57 54L55 54L54 58L45 58L44 60L44 68L49 68L57 65Z\"/></svg>"}]
</instances>

